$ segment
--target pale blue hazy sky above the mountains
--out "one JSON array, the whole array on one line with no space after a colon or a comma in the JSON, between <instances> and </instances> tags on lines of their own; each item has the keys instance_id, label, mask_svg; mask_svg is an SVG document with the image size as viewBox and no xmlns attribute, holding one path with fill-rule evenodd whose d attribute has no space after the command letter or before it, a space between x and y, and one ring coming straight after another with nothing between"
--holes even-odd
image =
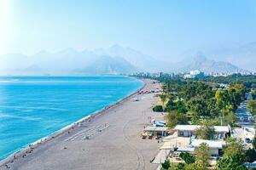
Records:
<instances>
[{"instance_id":1,"label":"pale blue hazy sky above the mountains","mask_svg":"<svg viewBox=\"0 0 256 170\"><path fill-rule=\"evenodd\" d=\"M118 43L172 56L254 41L255 0L0 0L0 54Z\"/></svg>"}]
</instances>

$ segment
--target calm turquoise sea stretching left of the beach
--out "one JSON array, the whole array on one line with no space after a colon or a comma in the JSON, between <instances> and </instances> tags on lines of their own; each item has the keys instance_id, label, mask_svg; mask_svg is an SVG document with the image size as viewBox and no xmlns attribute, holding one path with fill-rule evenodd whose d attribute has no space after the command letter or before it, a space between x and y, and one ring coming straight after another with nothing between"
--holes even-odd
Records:
<instances>
[{"instance_id":1,"label":"calm turquoise sea stretching left of the beach","mask_svg":"<svg viewBox=\"0 0 256 170\"><path fill-rule=\"evenodd\" d=\"M142 86L130 77L0 77L0 159Z\"/></svg>"}]
</instances>

